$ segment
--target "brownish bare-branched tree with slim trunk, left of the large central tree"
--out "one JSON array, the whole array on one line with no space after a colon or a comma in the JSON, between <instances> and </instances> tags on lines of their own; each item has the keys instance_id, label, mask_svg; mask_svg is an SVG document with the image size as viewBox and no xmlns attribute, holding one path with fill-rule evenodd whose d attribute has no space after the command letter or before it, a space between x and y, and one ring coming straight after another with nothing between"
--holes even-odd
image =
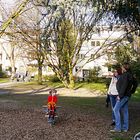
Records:
<instances>
[{"instance_id":1,"label":"brownish bare-branched tree with slim trunk, left of the large central tree","mask_svg":"<svg viewBox=\"0 0 140 140\"><path fill-rule=\"evenodd\" d=\"M16 36L22 41L21 49L25 52L22 56L30 62L36 61L38 83L42 84L44 53L41 42L40 15L33 5L30 5L30 7L30 10L27 10L15 20Z\"/></svg>"}]
</instances>

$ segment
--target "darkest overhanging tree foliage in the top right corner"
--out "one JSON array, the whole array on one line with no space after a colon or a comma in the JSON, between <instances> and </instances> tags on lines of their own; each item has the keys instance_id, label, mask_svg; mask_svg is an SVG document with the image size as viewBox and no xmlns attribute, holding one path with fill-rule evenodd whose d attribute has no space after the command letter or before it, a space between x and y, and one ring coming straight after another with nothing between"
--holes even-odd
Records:
<instances>
[{"instance_id":1,"label":"darkest overhanging tree foliage in the top right corner","mask_svg":"<svg viewBox=\"0 0 140 140\"><path fill-rule=\"evenodd\" d=\"M133 30L140 30L140 1L113 0L111 8L113 14L123 23L128 23Z\"/></svg>"}]
</instances>

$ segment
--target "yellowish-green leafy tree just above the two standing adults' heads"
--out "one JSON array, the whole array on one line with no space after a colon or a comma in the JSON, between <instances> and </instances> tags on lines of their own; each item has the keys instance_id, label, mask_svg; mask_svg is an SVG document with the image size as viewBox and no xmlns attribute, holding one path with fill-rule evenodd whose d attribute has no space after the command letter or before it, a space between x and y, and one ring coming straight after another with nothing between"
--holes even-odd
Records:
<instances>
[{"instance_id":1,"label":"yellowish-green leafy tree just above the two standing adults' heads","mask_svg":"<svg viewBox=\"0 0 140 140\"><path fill-rule=\"evenodd\" d=\"M140 81L139 41L134 40L131 44L127 41L118 43L113 53L114 59L116 59L118 64L123 64L124 62L131 64L132 73L135 74Z\"/></svg>"}]
</instances>

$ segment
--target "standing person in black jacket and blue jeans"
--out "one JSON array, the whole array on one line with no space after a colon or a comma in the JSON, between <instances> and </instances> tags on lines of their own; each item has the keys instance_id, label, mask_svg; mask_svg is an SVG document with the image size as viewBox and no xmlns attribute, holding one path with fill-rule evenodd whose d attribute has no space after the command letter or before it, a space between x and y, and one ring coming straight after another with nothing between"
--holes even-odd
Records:
<instances>
[{"instance_id":1,"label":"standing person in black jacket and blue jeans","mask_svg":"<svg viewBox=\"0 0 140 140\"><path fill-rule=\"evenodd\" d=\"M117 102L113 109L115 115L115 128L111 132L127 132L129 129L128 101L132 94L133 75L129 63L122 66L122 75L119 77L116 87L118 91ZM121 114L123 120L121 120Z\"/></svg>"}]
</instances>

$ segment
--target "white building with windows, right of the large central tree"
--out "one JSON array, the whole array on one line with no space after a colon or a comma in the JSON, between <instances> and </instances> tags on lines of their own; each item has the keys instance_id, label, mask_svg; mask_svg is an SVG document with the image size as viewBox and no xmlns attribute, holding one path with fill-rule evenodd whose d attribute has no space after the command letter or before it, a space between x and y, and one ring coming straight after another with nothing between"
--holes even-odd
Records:
<instances>
[{"instance_id":1,"label":"white building with windows, right of the large central tree","mask_svg":"<svg viewBox=\"0 0 140 140\"><path fill-rule=\"evenodd\" d=\"M109 49L111 42L115 41L118 38L123 37L123 30L115 28L111 31L106 28L100 32L100 34L93 34L89 41L85 41L81 51L79 53L79 61L75 67L74 75L76 77L85 78L89 76L89 71L94 67L100 67L99 76L108 75L108 68L105 64L109 61L107 55L100 56L99 58L92 61L92 57L97 51L99 51L95 58L99 54L102 54L103 50ZM105 47L106 45L106 47ZM87 61L90 60L89 63Z\"/></svg>"}]
</instances>

